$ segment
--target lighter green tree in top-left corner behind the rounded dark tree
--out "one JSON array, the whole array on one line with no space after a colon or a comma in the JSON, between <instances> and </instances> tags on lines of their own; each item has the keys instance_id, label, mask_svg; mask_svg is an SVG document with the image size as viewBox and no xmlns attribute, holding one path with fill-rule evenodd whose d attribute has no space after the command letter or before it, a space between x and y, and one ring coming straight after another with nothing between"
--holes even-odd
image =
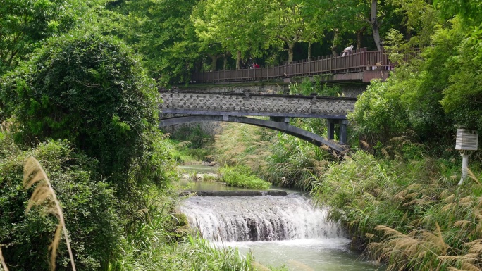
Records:
<instances>
[{"instance_id":1,"label":"lighter green tree in top-left corner behind the rounded dark tree","mask_svg":"<svg viewBox=\"0 0 482 271\"><path fill-rule=\"evenodd\" d=\"M0 74L15 67L39 42L75 27L104 0L0 1Z\"/></svg>"}]
</instances>

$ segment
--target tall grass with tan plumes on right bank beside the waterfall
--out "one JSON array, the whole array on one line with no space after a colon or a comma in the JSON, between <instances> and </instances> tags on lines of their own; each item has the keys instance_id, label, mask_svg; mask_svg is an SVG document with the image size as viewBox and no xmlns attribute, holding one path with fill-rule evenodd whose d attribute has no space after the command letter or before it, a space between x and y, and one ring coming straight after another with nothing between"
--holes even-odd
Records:
<instances>
[{"instance_id":1,"label":"tall grass with tan plumes on right bank beside the waterfall","mask_svg":"<svg viewBox=\"0 0 482 271\"><path fill-rule=\"evenodd\" d=\"M327 165L312 194L388 270L481 270L480 177L472 173L459 187L459 168L418 157L380 160L358 151Z\"/></svg>"}]
</instances>

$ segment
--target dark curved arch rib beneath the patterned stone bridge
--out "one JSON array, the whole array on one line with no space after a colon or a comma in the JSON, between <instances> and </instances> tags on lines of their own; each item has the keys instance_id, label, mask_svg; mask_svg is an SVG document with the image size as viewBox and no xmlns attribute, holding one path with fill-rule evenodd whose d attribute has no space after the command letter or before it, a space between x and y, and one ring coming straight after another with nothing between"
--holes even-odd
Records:
<instances>
[{"instance_id":1,"label":"dark curved arch rib beneath the patterned stone bridge","mask_svg":"<svg viewBox=\"0 0 482 271\"><path fill-rule=\"evenodd\" d=\"M169 125L178 125L178 124L189 123L189 122L203 122L203 121L227 121L227 122L246 123L249 125L256 125L259 127L265 127L265 128L277 130L280 132L285 132L286 134L290 134L294 137L298 137L299 139L308 141L312 144L315 144L316 146L321 146L321 145L329 146L331 149L334 149L335 151L338 151L338 152L345 151L346 149L345 146L337 144L335 141L328 140L325 137L319 136L318 134L308 132L307 130L303 130L293 125L289 125L288 123L285 123L285 122L276 122L272 120L260 120L257 118L238 117L238 116L232 116L232 115L230 116L228 115L189 115L189 116L183 116L183 117L165 118L160 120L159 127L169 126Z\"/></svg>"}]
</instances>

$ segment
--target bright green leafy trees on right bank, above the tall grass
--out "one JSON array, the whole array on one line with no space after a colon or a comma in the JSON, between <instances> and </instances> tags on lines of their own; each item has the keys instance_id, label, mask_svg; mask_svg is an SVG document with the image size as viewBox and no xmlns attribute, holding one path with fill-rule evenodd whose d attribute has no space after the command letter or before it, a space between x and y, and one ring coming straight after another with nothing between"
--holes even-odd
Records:
<instances>
[{"instance_id":1,"label":"bright green leafy trees on right bank, above the tall grass","mask_svg":"<svg viewBox=\"0 0 482 271\"><path fill-rule=\"evenodd\" d=\"M482 88L477 72L482 65L478 30L482 18L466 11L467 6L477 6L476 2L455 8L451 1L438 1L438 6L460 13L449 20L441 16L433 20L435 27L425 27L431 46L408 62L403 63L400 56L409 52L415 37L404 39L395 30L388 35L390 57L402 65L388 82L371 84L350 116L366 143L388 144L391 137L414 134L417 141L443 155L452 145L457 127L482 130Z\"/></svg>"}]
</instances>

